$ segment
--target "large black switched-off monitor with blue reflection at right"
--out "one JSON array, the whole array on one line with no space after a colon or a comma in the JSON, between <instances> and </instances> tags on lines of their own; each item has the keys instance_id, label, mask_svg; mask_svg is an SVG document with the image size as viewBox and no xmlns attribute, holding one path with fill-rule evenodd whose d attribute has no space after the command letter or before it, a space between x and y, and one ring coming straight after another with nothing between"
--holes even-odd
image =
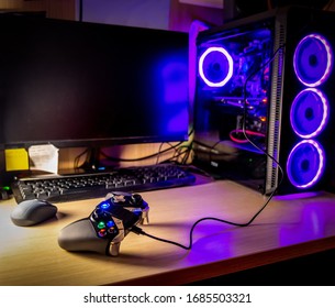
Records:
<instances>
[{"instance_id":1,"label":"large black switched-off monitor with blue reflection at right","mask_svg":"<svg viewBox=\"0 0 335 308\"><path fill-rule=\"evenodd\" d=\"M188 34L0 16L0 147L188 139Z\"/></svg>"}]
</instances>

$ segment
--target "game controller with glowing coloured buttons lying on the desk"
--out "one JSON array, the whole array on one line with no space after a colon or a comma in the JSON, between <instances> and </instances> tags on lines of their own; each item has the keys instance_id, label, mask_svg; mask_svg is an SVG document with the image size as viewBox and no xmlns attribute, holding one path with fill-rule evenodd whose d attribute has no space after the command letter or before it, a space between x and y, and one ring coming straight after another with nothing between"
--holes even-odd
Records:
<instances>
[{"instance_id":1,"label":"game controller with glowing coloured buttons lying on the desk","mask_svg":"<svg viewBox=\"0 0 335 308\"><path fill-rule=\"evenodd\" d=\"M148 223L148 204L138 194L105 196L88 218L63 228L58 244L67 251L91 251L118 256L121 242L136 224Z\"/></svg>"}]
</instances>

